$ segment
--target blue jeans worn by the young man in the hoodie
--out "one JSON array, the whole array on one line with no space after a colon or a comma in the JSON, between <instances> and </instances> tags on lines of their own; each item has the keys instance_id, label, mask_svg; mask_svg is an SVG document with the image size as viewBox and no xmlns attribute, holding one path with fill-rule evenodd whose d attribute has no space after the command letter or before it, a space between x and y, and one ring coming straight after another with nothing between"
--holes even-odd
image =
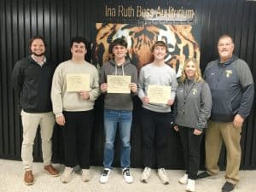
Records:
<instances>
[{"instance_id":1,"label":"blue jeans worn by the young man in the hoodie","mask_svg":"<svg viewBox=\"0 0 256 192\"><path fill-rule=\"evenodd\" d=\"M104 161L105 168L112 168L115 135L117 125L119 123L119 137L121 141L120 163L121 167L130 167L130 136L131 136L132 112L124 110L104 110L104 129L105 129L105 145L104 145Z\"/></svg>"}]
</instances>

